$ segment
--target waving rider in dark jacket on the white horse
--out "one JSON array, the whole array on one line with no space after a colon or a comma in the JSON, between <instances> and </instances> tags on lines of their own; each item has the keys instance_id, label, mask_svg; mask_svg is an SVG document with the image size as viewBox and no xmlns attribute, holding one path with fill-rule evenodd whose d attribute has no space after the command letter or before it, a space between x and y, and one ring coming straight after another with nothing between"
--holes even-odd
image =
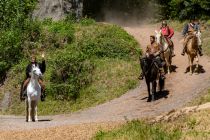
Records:
<instances>
[{"instance_id":1,"label":"waving rider in dark jacket on the white horse","mask_svg":"<svg viewBox=\"0 0 210 140\"><path fill-rule=\"evenodd\" d=\"M44 74L44 72L46 71L46 64L45 64L44 57L45 57L44 54L42 54L42 63L37 63L35 56L31 57L31 63L26 68L26 80L24 81L22 89L21 89L22 96L25 96L24 93L25 93L26 87L28 86L28 83L30 82L30 78L31 78L30 73L32 71L33 66L37 66L41 70L42 74ZM41 100L44 101L46 95L44 94L45 85L42 79L39 79L39 84L42 88Z\"/></svg>"}]
</instances>

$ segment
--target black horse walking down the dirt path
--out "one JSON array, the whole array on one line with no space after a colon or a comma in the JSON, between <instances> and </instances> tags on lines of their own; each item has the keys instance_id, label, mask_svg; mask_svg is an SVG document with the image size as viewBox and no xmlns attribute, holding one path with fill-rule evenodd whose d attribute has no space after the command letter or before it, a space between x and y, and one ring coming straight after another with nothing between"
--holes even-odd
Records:
<instances>
[{"instance_id":1,"label":"black horse walking down the dirt path","mask_svg":"<svg viewBox=\"0 0 210 140\"><path fill-rule=\"evenodd\" d=\"M147 102L150 102L151 100L154 101L157 81L159 83L159 90L161 92L164 88L165 80L160 78L158 63L156 62L155 58L142 58L140 59L140 64L147 84L149 95ZM150 88L150 84L152 85L152 88Z\"/></svg>"}]
</instances>

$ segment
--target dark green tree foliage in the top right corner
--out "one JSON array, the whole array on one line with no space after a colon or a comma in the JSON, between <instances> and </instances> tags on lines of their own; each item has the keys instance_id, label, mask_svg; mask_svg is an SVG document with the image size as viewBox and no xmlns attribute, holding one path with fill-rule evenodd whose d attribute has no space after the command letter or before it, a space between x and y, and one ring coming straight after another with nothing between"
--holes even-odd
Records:
<instances>
[{"instance_id":1,"label":"dark green tree foliage in the top right corner","mask_svg":"<svg viewBox=\"0 0 210 140\"><path fill-rule=\"evenodd\" d=\"M158 0L163 19L185 20L194 16L209 19L209 0Z\"/></svg>"}]
</instances>

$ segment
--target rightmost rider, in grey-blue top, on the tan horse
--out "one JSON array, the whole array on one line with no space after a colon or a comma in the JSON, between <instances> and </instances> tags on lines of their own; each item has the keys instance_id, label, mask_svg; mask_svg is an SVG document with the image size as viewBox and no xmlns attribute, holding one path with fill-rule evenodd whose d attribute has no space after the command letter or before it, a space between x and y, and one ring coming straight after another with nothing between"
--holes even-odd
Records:
<instances>
[{"instance_id":1,"label":"rightmost rider, in grey-blue top, on the tan horse","mask_svg":"<svg viewBox=\"0 0 210 140\"><path fill-rule=\"evenodd\" d=\"M189 39L194 36L195 31L196 32L200 31L199 21L195 17L191 17L190 22L184 26L184 29L182 32L182 36L184 37L184 43L183 43L183 50L182 50L181 55L185 54L186 45L187 45ZM199 55L202 56L203 53L202 53L201 41L198 45L198 51L199 51Z\"/></svg>"}]
</instances>

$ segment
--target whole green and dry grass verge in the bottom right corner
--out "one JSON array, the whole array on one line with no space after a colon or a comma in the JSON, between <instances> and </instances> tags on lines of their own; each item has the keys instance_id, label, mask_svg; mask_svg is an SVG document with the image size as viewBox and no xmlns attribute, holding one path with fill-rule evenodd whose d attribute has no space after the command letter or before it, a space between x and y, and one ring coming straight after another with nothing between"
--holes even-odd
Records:
<instances>
[{"instance_id":1,"label":"whole green and dry grass verge in the bottom right corner","mask_svg":"<svg viewBox=\"0 0 210 140\"><path fill-rule=\"evenodd\" d=\"M93 140L207 140L210 139L210 110L150 124L133 120L113 130L98 131Z\"/></svg>"}]
</instances>

